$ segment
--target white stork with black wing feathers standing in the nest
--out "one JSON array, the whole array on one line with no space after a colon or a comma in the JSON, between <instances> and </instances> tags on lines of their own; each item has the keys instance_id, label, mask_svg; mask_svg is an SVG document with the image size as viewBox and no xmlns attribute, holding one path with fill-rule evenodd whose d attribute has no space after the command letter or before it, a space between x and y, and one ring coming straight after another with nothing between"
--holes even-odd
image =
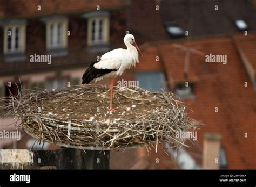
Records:
<instances>
[{"instance_id":1,"label":"white stork with black wing feathers standing in the nest","mask_svg":"<svg viewBox=\"0 0 256 187\"><path fill-rule=\"evenodd\" d=\"M112 77L110 84L109 107L109 110L112 112L114 111L112 108L114 77L122 75L125 69L130 69L131 67L135 66L136 63L139 62L138 52L142 54L132 34L125 35L124 44L126 45L127 49L114 49L100 56L98 60L92 62L89 68L86 69L82 78L82 84L88 84L92 80L97 82L105 77Z\"/></svg>"}]
</instances>

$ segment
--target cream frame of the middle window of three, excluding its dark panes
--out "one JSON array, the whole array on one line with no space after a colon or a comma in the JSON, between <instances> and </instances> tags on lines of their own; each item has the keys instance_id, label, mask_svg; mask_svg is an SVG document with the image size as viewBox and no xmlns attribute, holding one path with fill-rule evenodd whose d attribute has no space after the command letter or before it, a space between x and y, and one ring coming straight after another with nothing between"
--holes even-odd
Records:
<instances>
[{"instance_id":1,"label":"cream frame of the middle window of three, excluding its dark panes","mask_svg":"<svg viewBox=\"0 0 256 187\"><path fill-rule=\"evenodd\" d=\"M46 24L46 49L58 49L58 48L67 48L68 47L68 19L67 18L46 18L43 19ZM61 28L61 39L60 43L58 44L57 38L58 38L58 31L57 31L57 25L62 25ZM53 27L53 44L51 42L51 25L54 25Z\"/></svg>"}]
</instances>

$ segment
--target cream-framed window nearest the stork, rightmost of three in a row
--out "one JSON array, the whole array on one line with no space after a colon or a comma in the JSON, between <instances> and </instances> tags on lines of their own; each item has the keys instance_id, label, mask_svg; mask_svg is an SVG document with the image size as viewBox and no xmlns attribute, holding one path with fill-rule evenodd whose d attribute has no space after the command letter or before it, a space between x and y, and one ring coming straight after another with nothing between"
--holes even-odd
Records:
<instances>
[{"instance_id":1,"label":"cream-framed window nearest the stork, rightmost of three in a row","mask_svg":"<svg viewBox=\"0 0 256 187\"><path fill-rule=\"evenodd\" d=\"M88 20L87 45L91 52L109 49L109 12L95 11L83 15Z\"/></svg>"}]
</instances>

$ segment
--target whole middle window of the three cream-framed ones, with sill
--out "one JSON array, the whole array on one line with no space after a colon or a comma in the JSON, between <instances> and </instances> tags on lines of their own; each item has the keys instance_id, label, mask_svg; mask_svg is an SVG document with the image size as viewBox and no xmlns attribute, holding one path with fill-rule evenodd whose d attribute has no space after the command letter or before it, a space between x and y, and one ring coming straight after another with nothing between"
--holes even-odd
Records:
<instances>
[{"instance_id":1,"label":"whole middle window of the three cream-framed ones, with sill","mask_svg":"<svg viewBox=\"0 0 256 187\"><path fill-rule=\"evenodd\" d=\"M50 16L42 19L46 25L46 49L48 54L62 56L68 53L68 18Z\"/></svg>"}]
</instances>

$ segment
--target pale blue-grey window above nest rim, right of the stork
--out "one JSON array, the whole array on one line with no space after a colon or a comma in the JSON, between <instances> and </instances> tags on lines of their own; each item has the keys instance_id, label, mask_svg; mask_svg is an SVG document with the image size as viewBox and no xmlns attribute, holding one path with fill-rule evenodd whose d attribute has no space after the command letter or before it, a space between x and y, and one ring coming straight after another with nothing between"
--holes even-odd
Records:
<instances>
[{"instance_id":1,"label":"pale blue-grey window above nest rim, right of the stork","mask_svg":"<svg viewBox=\"0 0 256 187\"><path fill-rule=\"evenodd\" d=\"M138 86L149 91L167 91L163 71L138 71L136 73Z\"/></svg>"}]
</instances>

